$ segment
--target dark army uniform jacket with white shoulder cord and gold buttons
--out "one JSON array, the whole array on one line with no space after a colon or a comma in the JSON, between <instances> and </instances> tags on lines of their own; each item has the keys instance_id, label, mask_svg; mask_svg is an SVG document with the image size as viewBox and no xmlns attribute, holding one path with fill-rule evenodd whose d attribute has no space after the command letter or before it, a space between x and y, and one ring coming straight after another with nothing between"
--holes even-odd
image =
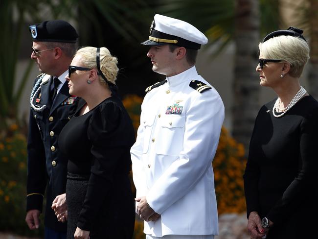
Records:
<instances>
[{"instance_id":1,"label":"dark army uniform jacket with white shoulder cord and gold buttons","mask_svg":"<svg viewBox=\"0 0 318 239\"><path fill-rule=\"evenodd\" d=\"M46 189L45 226L66 232L66 223L56 219L51 205L66 189L67 160L59 150L58 137L69 120L68 112L75 97L68 94L66 81L52 103L49 98L52 78L44 73L39 75L30 98L26 210L42 212Z\"/></svg>"}]
</instances>

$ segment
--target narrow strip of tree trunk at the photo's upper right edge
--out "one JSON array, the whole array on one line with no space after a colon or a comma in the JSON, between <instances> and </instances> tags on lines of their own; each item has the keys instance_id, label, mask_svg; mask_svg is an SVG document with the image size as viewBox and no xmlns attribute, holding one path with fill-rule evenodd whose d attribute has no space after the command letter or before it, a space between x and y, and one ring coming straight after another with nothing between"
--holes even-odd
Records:
<instances>
[{"instance_id":1,"label":"narrow strip of tree trunk at the photo's upper right edge","mask_svg":"<svg viewBox=\"0 0 318 239\"><path fill-rule=\"evenodd\" d=\"M310 34L310 67L308 74L309 93L318 100L318 1L310 0L309 24Z\"/></svg>"}]
</instances>

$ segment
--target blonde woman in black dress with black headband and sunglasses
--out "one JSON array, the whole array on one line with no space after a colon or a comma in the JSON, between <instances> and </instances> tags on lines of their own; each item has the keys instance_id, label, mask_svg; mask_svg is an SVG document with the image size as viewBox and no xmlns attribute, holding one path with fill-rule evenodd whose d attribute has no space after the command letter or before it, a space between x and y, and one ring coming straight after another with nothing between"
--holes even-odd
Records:
<instances>
[{"instance_id":1,"label":"blonde woman in black dress with black headband and sunglasses","mask_svg":"<svg viewBox=\"0 0 318 239\"><path fill-rule=\"evenodd\" d=\"M107 48L79 49L68 68L77 109L59 137L68 158L68 239L130 239L135 222L128 174L132 122L114 94L117 59Z\"/></svg>"}]
</instances>

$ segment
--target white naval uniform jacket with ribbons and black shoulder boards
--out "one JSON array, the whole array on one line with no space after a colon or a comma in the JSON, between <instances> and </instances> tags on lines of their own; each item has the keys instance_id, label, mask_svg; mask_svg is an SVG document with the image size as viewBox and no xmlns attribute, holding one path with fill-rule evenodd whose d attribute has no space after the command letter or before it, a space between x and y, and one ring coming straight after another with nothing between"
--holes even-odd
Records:
<instances>
[{"instance_id":1,"label":"white naval uniform jacket with ribbons and black shoulder boards","mask_svg":"<svg viewBox=\"0 0 318 239\"><path fill-rule=\"evenodd\" d=\"M166 79L145 96L131 148L136 196L146 196L150 207L161 215L155 222L144 223L144 233L155 237L218 235L211 163L224 104L213 87L199 93L189 86L191 80L210 86L195 67ZM171 113L169 106L180 114L166 114Z\"/></svg>"}]
</instances>

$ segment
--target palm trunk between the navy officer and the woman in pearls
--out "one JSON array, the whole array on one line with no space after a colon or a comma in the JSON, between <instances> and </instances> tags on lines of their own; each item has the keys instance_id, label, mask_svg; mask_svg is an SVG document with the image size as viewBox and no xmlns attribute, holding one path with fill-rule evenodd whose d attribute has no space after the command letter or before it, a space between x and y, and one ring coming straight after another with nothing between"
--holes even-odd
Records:
<instances>
[{"instance_id":1,"label":"palm trunk between the navy officer and the woman in pearls","mask_svg":"<svg viewBox=\"0 0 318 239\"><path fill-rule=\"evenodd\" d=\"M259 110L260 86L255 72L259 25L259 1L236 0L232 134L244 144L246 155Z\"/></svg>"}]
</instances>

